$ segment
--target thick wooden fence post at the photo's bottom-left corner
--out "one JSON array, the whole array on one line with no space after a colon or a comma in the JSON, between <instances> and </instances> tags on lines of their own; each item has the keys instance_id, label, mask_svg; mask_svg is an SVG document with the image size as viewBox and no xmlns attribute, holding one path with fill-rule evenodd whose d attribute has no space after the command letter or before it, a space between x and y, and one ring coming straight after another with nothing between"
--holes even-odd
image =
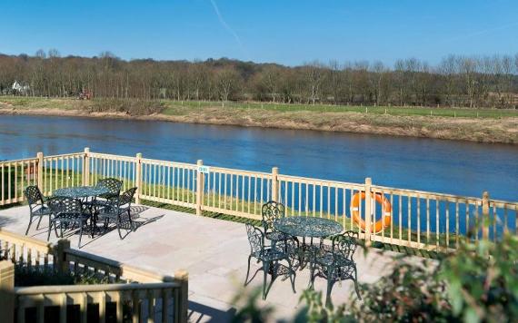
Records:
<instances>
[{"instance_id":1,"label":"thick wooden fence post at the photo's bottom-left corner","mask_svg":"<svg viewBox=\"0 0 518 323\"><path fill-rule=\"evenodd\" d=\"M15 321L15 264L0 261L0 313L5 322Z\"/></svg>"}]
</instances>

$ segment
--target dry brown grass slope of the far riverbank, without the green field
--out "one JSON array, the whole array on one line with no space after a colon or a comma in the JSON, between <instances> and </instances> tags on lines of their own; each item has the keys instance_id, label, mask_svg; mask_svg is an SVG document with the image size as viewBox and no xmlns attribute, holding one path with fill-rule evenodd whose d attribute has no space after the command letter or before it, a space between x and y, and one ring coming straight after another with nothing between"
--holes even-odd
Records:
<instances>
[{"instance_id":1,"label":"dry brown grass slope of the far riverbank, without the green field","mask_svg":"<svg viewBox=\"0 0 518 323\"><path fill-rule=\"evenodd\" d=\"M359 113L342 111L339 108L312 109L312 106L272 109L257 104L251 108L246 103L222 106L221 103L196 105L164 101L160 104L158 113L134 114L131 111L117 112L117 110L96 112L98 109L94 109L95 103L75 99L0 97L0 114L158 120L325 132L374 133L470 142L518 143L518 114L496 118L453 118L410 113L393 115L390 110L387 114ZM433 114L433 110L430 110L430 113ZM463 110L459 109L459 115L462 113Z\"/></svg>"}]
</instances>

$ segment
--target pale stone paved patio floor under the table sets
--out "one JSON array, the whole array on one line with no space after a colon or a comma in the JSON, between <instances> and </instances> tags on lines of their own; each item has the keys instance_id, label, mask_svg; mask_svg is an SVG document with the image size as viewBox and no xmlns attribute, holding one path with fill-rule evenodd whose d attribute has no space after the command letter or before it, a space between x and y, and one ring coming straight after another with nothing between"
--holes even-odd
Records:
<instances>
[{"instance_id":1,"label":"pale stone paved patio floor under the table sets","mask_svg":"<svg viewBox=\"0 0 518 323\"><path fill-rule=\"evenodd\" d=\"M116 230L90 239L83 237L81 250L122 261L144 269L172 275L176 269L189 272L189 311L192 321L226 321L235 312L232 303L237 293L242 293L246 260L250 252L244 224L226 220L195 216L174 210L135 206L139 227L120 240ZM27 206L0 210L0 227L24 234L28 224ZM42 221L43 222L43 221ZM29 236L46 239L47 223L40 230L35 224ZM78 235L67 237L73 248ZM51 240L55 241L54 233ZM360 282L374 282L387 272L395 253L378 251L357 252L354 259ZM253 261L251 273L259 268ZM245 290L261 287L263 276L259 272ZM277 279L265 304L273 305L275 316L286 318L301 308L299 298L309 281L308 269L298 271L295 288L289 279ZM324 279L315 280L315 289L325 293ZM336 284L334 303L346 302L354 289L350 280Z\"/></svg>"}]
</instances>

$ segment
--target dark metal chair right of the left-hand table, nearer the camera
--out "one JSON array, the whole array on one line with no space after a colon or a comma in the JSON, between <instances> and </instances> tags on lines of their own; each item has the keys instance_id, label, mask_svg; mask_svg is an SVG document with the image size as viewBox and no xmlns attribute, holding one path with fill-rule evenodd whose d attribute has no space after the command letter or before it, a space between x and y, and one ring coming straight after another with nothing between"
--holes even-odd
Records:
<instances>
[{"instance_id":1,"label":"dark metal chair right of the left-hand table, nearer the camera","mask_svg":"<svg viewBox=\"0 0 518 323\"><path fill-rule=\"evenodd\" d=\"M105 222L105 229L108 228L110 222L115 222L121 240L124 239L121 234L121 229L124 229L122 217L125 213L127 213L131 230L134 231L134 222L131 219L131 203L133 201L135 191L136 187L125 191L116 198L110 198L105 202L104 207L97 213L97 220Z\"/></svg>"}]
</instances>

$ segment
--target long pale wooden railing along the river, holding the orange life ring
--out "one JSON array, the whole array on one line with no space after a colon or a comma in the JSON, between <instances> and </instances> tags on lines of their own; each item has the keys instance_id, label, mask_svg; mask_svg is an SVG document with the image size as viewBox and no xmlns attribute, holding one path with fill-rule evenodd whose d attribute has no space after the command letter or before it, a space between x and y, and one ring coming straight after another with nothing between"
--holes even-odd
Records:
<instances>
[{"instance_id":1,"label":"long pale wooden railing along the river, holding the orange life ring","mask_svg":"<svg viewBox=\"0 0 518 323\"><path fill-rule=\"evenodd\" d=\"M156 201L192 208L197 214L217 212L254 220L261 219L264 202L281 201L287 216L304 215L339 221L347 230L360 231L364 240L426 250L454 250L469 236L496 240L504 231L518 231L518 202L464 197L429 191L378 186L367 178L363 183L328 181L271 172L241 171L195 164L167 162L105 153L84 152L35 159L0 162L2 195L0 205L23 201L22 189L37 183L45 195L61 187L92 185L105 177L137 187L137 203ZM32 175L31 175L32 174ZM353 205L355 194L364 201ZM374 223L387 211L379 197L390 202L390 225L374 230ZM351 220L357 211L364 221L359 228ZM485 224L482 230L480 224Z\"/></svg>"}]
</instances>

